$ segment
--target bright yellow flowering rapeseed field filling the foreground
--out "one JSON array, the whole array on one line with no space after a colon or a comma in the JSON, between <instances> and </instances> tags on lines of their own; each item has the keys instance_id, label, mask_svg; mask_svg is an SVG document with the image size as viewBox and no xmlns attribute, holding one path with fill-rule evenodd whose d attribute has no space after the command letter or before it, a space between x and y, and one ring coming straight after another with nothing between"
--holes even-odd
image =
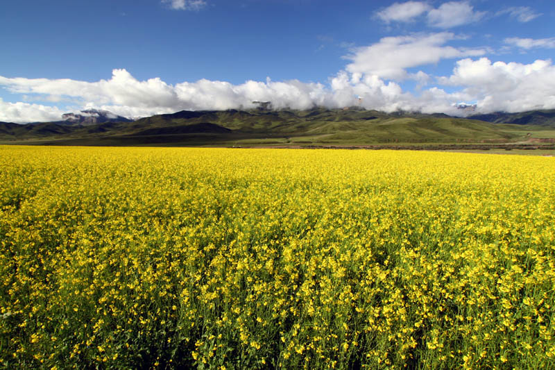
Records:
<instances>
[{"instance_id":1,"label":"bright yellow flowering rapeseed field filling the foreground","mask_svg":"<svg viewBox=\"0 0 555 370\"><path fill-rule=\"evenodd\" d=\"M0 146L0 366L554 369L555 159Z\"/></svg>"}]
</instances>

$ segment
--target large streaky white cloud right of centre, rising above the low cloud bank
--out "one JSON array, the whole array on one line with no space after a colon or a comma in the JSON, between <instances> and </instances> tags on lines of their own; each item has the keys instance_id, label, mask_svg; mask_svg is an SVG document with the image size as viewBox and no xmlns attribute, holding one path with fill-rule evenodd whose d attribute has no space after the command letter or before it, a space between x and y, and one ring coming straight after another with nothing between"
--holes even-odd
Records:
<instances>
[{"instance_id":1,"label":"large streaky white cloud right of centre, rising above the low cloud bank","mask_svg":"<svg viewBox=\"0 0 555 370\"><path fill-rule=\"evenodd\" d=\"M351 73L375 74L380 78L402 81L411 77L407 68L429 65L445 58L482 56L486 53L484 49L445 46L454 38L453 33L447 32L384 37L369 47L353 49L352 55L345 57L352 60L346 69Z\"/></svg>"}]
</instances>

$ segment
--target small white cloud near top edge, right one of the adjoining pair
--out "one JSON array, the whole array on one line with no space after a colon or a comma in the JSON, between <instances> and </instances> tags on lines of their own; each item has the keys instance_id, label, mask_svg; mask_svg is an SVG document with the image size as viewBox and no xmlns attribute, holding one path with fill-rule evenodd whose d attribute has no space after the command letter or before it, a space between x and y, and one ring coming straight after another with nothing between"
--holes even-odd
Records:
<instances>
[{"instance_id":1,"label":"small white cloud near top edge, right one of the adjoining pair","mask_svg":"<svg viewBox=\"0 0 555 370\"><path fill-rule=\"evenodd\" d=\"M486 12L475 12L468 1L443 3L428 12L428 24L438 28L452 28L478 22Z\"/></svg>"}]
</instances>

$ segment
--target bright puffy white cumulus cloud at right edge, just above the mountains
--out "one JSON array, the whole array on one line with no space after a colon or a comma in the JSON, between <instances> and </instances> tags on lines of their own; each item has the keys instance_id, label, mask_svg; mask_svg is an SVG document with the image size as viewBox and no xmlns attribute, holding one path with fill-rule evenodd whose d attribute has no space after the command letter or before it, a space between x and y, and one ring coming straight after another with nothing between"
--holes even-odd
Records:
<instances>
[{"instance_id":1,"label":"bright puffy white cumulus cloud at right edge, just above the mountains","mask_svg":"<svg viewBox=\"0 0 555 370\"><path fill-rule=\"evenodd\" d=\"M488 58L456 62L445 85L464 87L481 112L522 112L555 108L555 66L551 60L530 64L491 62Z\"/></svg>"}]
</instances>

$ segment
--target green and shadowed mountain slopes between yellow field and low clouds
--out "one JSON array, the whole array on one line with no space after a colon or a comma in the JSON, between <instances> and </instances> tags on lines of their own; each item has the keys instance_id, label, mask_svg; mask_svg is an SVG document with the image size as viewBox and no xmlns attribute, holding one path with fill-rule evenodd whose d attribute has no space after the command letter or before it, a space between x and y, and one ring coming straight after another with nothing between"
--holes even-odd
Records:
<instances>
[{"instance_id":1,"label":"green and shadowed mountain slopes between yellow field and low clouds","mask_svg":"<svg viewBox=\"0 0 555 370\"><path fill-rule=\"evenodd\" d=\"M555 127L549 126L499 124L408 112L387 114L360 108L183 110L137 121L112 121L89 126L68 126L58 122L0 124L0 142L8 144L410 145L513 143L532 139L550 143L554 138Z\"/></svg>"}]
</instances>

